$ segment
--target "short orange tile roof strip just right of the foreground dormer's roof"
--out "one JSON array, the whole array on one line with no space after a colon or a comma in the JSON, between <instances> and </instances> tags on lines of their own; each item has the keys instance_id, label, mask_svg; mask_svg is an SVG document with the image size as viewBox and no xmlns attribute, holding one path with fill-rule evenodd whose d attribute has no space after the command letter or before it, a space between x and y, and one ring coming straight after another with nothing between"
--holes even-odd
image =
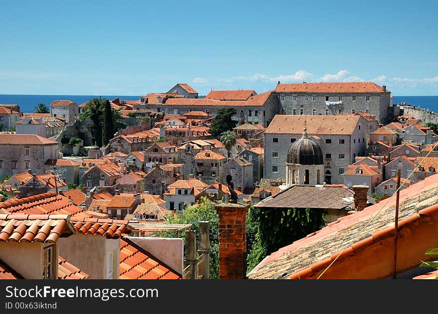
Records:
<instances>
[{"instance_id":1,"label":"short orange tile roof strip just right of the foreground dormer's roof","mask_svg":"<svg viewBox=\"0 0 438 314\"><path fill-rule=\"evenodd\" d=\"M111 239L118 239L128 225L126 220L79 217L70 218L70 223L78 233L84 235L103 235Z\"/></svg>"}]
</instances>

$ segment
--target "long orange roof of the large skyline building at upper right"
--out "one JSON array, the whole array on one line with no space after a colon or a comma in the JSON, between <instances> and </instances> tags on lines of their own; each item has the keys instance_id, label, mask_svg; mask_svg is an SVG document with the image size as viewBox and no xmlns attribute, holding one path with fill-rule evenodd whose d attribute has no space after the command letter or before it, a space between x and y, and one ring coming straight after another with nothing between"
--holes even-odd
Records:
<instances>
[{"instance_id":1,"label":"long orange roof of the large skyline building at upper right","mask_svg":"<svg viewBox=\"0 0 438 314\"><path fill-rule=\"evenodd\" d=\"M295 83L277 84L276 92L311 92L311 93L341 93L341 92L366 92L383 93L390 91L373 82L335 82L335 83Z\"/></svg>"}]
</instances>

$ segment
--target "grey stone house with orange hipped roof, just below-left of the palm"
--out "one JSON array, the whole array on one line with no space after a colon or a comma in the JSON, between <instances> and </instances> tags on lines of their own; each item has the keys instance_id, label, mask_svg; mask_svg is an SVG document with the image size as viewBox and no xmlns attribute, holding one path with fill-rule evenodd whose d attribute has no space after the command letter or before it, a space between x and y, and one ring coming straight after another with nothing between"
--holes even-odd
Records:
<instances>
[{"instance_id":1,"label":"grey stone house with orange hipped roof, just below-left of the palm","mask_svg":"<svg viewBox=\"0 0 438 314\"><path fill-rule=\"evenodd\" d=\"M196 175L202 175L203 181L212 184L216 180L222 182L222 166L226 157L213 151L201 151L195 156ZM252 169L251 169L252 171Z\"/></svg>"}]
</instances>

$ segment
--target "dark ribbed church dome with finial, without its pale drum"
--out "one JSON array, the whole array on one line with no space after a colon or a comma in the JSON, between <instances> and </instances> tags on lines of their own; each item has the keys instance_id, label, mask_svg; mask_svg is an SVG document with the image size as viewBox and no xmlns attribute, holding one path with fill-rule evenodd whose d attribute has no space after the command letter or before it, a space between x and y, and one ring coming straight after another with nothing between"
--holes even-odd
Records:
<instances>
[{"instance_id":1,"label":"dark ribbed church dome with finial, without its pale drum","mask_svg":"<svg viewBox=\"0 0 438 314\"><path fill-rule=\"evenodd\" d=\"M291 145L287 162L306 165L323 164L323 151L318 143L307 137L306 129L303 137Z\"/></svg>"}]
</instances>

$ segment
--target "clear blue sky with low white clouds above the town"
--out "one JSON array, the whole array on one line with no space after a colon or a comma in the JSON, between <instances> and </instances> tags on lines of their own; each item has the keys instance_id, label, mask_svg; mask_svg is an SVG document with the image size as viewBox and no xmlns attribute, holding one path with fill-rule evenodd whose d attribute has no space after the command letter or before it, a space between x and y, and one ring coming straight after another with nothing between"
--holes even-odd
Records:
<instances>
[{"instance_id":1,"label":"clear blue sky with low white clouds above the town","mask_svg":"<svg viewBox=\"0 0 438 314\"><path fill-rule=\"evenodd\" d=\"M0 94L373 80L438 95L435 1L64 2L2 1Z\"/></svg>"}]
</instances>

